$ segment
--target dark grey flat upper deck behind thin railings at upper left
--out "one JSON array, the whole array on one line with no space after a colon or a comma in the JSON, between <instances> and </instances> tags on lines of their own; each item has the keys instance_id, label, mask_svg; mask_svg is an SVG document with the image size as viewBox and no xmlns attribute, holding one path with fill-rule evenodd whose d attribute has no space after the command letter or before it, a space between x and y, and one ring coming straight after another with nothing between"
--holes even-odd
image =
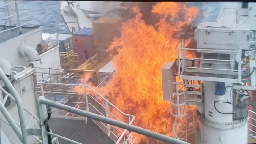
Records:
<instances>
[{"instance_id":1,"label":"dark grey flat upper deck behind thin railings at upper left","mask_svg":"<svg viewBox=\"0 0 256 144\"><path fill-rule=\"evenodd\" d=\"M39 28L40 25L37 26L22 26L23 34L35 30ZM5 31L6 29L9 29L8 31ZM4 31L4 32L1 32ZM10 26L4 26L0 25L0 43L6 42L14 37L18 37L20 35L19 28L11 29Z\"/></svg>"}]
</instances>

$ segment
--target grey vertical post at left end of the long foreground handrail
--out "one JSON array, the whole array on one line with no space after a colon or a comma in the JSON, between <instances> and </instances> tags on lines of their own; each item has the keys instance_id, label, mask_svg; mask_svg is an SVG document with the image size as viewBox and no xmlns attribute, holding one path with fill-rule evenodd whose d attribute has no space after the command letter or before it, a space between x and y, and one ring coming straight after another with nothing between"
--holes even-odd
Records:
<instances>
[{"instance_id":1,"label":"grey vertical post at left end of the long foreground handrail","mask_svg":"<svg viewBox=\"0 0 256 144\"><path fill-rule=\"evenodd\" d=\"M48 136L47 136L47 130L45 127L45 120L47 118L47 108L45 104L40 103L40 99L45 99L44 96L39 96L38 98L38 110L39 110L39 119L40 119L40 126L41 126L41 132L42 132L42 142L43 144L48 143Z\"/></svg>"}]
</instances>

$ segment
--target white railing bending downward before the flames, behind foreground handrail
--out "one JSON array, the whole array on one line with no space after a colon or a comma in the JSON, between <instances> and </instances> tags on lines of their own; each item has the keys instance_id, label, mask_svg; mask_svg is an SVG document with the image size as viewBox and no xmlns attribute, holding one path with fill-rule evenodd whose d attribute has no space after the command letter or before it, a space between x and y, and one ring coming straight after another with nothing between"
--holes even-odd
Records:
<instances>
[{"instance_id":1,"label":"white railing bending downward before the flames, behind foreground handrail","mask_svg":"<svg viewBox=\"0 0 256 144\"><path fill-rule=\"evenodd\" d=\"M43 96L46 96L47 94L55 94L55 95L69 95L74 96L73 101L75 102L60 102L64 103L65 105L69 105L72 107L80 108L86 111L89 111L91 113L95 113L97 115L102 115L108 118L115 119L117 121L121 121L120 118L123 118L124 121L126 121L128 124L132 124L134 121L134 116L126 114L122 112L120 109L118 109L115 105L113 105L111 102L109 102L107 99L105 99L104 96L99 94L97 91L92 89L90 86L86 85L75 85L75 84L63 84L63 83L39 83L40 85L40 91L36 91L37 93L41 93ZM66 86L70 88L69 92L60 92L60 91L44 91L44 87L50 87L50 86ZM78 93L75 91L71 91L72 88L75 87L81 87L84 88L84 93ZM90 93L89 93L90 92ZM94 95L94 96L92 96ZM78 99L75 98L75 96L83 97L83 99L77 101ZM47 96L46 96L47 97ZM59 111L57 115L66 116L66 117L80 117L79 115L75 115L72 113L63 113L61 110L54 109L53 111ZM114 112L114 113L113 113ZM54 113L53 113L54 115ZM118 116L119 115L119 116ZM87 118L86 118L87 121ZM114 141L116 141L116 144L119 144L120 141L126 142L127 144L132 144L135 141L135 137L132 136L132 132L129 133L127 130L120 129L116 126L110 126L109 124L104 124L99 121L93 120L108 136L110 136Z\"/></svg>"}]
</instances>

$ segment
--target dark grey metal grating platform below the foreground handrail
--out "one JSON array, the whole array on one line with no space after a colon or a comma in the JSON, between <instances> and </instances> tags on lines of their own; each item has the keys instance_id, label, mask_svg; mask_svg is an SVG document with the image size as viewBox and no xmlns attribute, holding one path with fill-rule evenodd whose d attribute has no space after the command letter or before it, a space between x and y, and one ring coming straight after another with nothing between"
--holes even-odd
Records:
<instances>
[{"instance_id":1,"label":"dark grey metal grating platform below the foreground handrail","mask_svg":"<svg viewBox=\"0 0 256 144\"><path fill-rule=\"evenodd\" d=\"M115 144L115 142L103 132L91 119L87 124L84 120L51 118L50 128L53 133L78 141L84 144ZM61 144L69 144L59 139Z\"/></svg>"}]
</instances>

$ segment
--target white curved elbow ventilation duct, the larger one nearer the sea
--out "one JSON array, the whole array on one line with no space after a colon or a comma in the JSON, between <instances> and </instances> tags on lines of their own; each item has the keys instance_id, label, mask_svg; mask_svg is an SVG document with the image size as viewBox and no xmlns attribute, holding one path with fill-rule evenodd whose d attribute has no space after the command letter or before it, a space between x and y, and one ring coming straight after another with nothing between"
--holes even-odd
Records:
<instances>
[{"instance_id":1,"label":"white curved elbow ventilation duct, the larger one nearer the sea","mask_svg":"<svg viewBox=\"0 0 256 144\"><path fill-rule=\"evenodd\" d=\"M37 50L27 45L26 43L21 42L19 44L19 52L21 56L29 57L29 60L31 62L41 60L41 58L39 57L39 54L37 53Z\"/></svg>"}]
</instances>

